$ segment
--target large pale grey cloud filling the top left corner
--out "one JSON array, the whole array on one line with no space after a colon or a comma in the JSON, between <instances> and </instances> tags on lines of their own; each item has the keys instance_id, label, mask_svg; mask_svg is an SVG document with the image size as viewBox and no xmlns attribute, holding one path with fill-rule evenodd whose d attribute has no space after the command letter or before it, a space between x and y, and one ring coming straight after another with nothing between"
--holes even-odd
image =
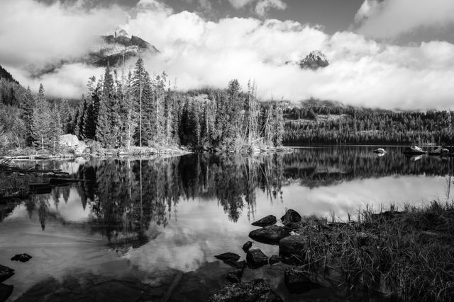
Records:
<instances>
[{"instance_id":1,"label":"large pale grey cloud filling the top left corner","mask_svg":"<svg viewBox=\"0 0 454 302\"><path fill-rule=\"evenodd\" d=\"M55 2L2 0L0 58L2 64L38 64L78 57L100 33L125 20L117 6L81 7Z\"/></svg>"}]
</instances>

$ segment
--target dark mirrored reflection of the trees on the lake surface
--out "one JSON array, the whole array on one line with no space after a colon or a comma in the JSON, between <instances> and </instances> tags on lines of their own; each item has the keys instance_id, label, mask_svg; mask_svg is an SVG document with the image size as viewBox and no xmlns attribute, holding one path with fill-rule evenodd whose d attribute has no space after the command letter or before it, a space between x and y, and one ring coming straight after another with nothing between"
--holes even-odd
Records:
<instances>
[{"instance_id":1,"label":"dark mirrored reflection of the trees on the lake surface","mask_svg":"<svg viewBox=\"0 0 454 302\"><path fill-rule=\"evenodd\" d=\"M73 190L89 213L84 226L106 236L114 248L136 247L153 238L151 225L165 227L177 219L178 204L185 200L215 199L228 219L236 222L241 215L250 218L255 213L258 190L272 202L284 202L282 186L294 182L312 188L389 175L450 175L450 160L427 157L411 161L397 147L377 157L372 150L332 147L256 157L199 153L173 158L92 159L74 170L74 178L85 180L80 185L34 195L25 207L29 216L38 212L43 230L50 216L68 223L58 214L58 207L60 201L68 202ZM51 209L52 203L55 209Z\"/></svg>"}]
</instances>

